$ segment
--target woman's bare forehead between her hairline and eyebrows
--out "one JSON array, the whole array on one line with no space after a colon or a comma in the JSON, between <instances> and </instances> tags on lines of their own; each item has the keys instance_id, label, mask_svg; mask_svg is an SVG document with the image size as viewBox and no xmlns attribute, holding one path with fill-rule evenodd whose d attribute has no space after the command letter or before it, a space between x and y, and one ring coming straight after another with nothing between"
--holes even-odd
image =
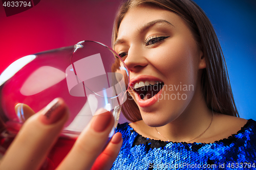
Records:
<instances>
[{"instance_id":1,"label":"woman's bare forehead between her hairline and eyebrows","mask_svg":"<svg viewBox=\"0 0 256 170\"><path fill-rule=\"evenodd\" d=\"M186 27L184 20L175 13L151 6L139 6L129 9L120 23L118 38L139 32L148 22L163 19L173 26ZM162 23L163 24L163 23Z\"/></svg>"}]
</instances>

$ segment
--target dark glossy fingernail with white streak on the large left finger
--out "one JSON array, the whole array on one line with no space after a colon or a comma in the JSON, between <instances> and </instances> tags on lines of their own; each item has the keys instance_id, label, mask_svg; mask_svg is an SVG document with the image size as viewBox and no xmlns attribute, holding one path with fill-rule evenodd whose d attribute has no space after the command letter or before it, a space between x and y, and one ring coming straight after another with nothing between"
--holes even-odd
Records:
<instances>
[{"instance_id":1,"label":"dark glossy fingernail with white streak on the large left finger","mask_svg":"<svg viewBox=\"0 0 256 170\"><path fill-rule=\"evenodd\" d=\"M41 122L50 125L58 122L59 119L65 114L66 106L60 99L54 99L49 103L46 108L42 111L40 116Z\"/></svg>"}]
</instances>

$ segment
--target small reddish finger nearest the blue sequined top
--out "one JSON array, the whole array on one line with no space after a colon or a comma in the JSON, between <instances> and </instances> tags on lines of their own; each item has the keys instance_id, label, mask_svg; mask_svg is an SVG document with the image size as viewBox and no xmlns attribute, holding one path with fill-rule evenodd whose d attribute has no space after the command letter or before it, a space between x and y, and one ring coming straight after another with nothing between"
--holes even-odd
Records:
<instances>
[{"instance_id":1,"label":"small reddish finger nearest the blue sequined top","mask_svg":"<svg viewBox=\"0 0 256 170\"><path fill-rule=\"evenodd\" d=\"M116 160L122 143L122 134L118 132L112 137L108 146L98 156L91 170L109 170L112 167L113 162Z\"/></svg>"}]
</instances>

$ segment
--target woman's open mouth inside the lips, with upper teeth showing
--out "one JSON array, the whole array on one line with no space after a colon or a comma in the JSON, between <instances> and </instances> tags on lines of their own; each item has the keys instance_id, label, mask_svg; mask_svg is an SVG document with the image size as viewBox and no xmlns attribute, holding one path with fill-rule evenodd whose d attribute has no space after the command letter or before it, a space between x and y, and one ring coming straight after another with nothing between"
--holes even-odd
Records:
<instances>
[{"instance_id":1,"label":"woman's open mouth inside the lips, with upper teeth showing","mask_svg":"<svg viewBox=\"0 0 256 170\"><path fill-rule=\"evenodd\" d=\"M142 100L151 99L155 96L164 86L160 81L140 81L134 85L134 91L138 94Z\"/></svg>"}]
</instances>

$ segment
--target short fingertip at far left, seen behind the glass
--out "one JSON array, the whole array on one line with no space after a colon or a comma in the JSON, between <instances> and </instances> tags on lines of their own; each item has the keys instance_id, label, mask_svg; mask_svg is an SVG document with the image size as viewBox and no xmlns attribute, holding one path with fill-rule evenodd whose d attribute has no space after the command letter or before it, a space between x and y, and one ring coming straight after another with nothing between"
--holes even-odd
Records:
<instances>
[{"instance_id":1,"label":"short fingertip at far left, seen behind the glass","mask_svg":"<svg viewBox=\"0 0 256 170\"><path fill-rule=\"evenodd\" d=\"M15 105L15 112L21 122L25 122L30 116L35 114L34 110L32 110L28 105L23 103L18 103Z\"/></svg>"}]
</instances>

